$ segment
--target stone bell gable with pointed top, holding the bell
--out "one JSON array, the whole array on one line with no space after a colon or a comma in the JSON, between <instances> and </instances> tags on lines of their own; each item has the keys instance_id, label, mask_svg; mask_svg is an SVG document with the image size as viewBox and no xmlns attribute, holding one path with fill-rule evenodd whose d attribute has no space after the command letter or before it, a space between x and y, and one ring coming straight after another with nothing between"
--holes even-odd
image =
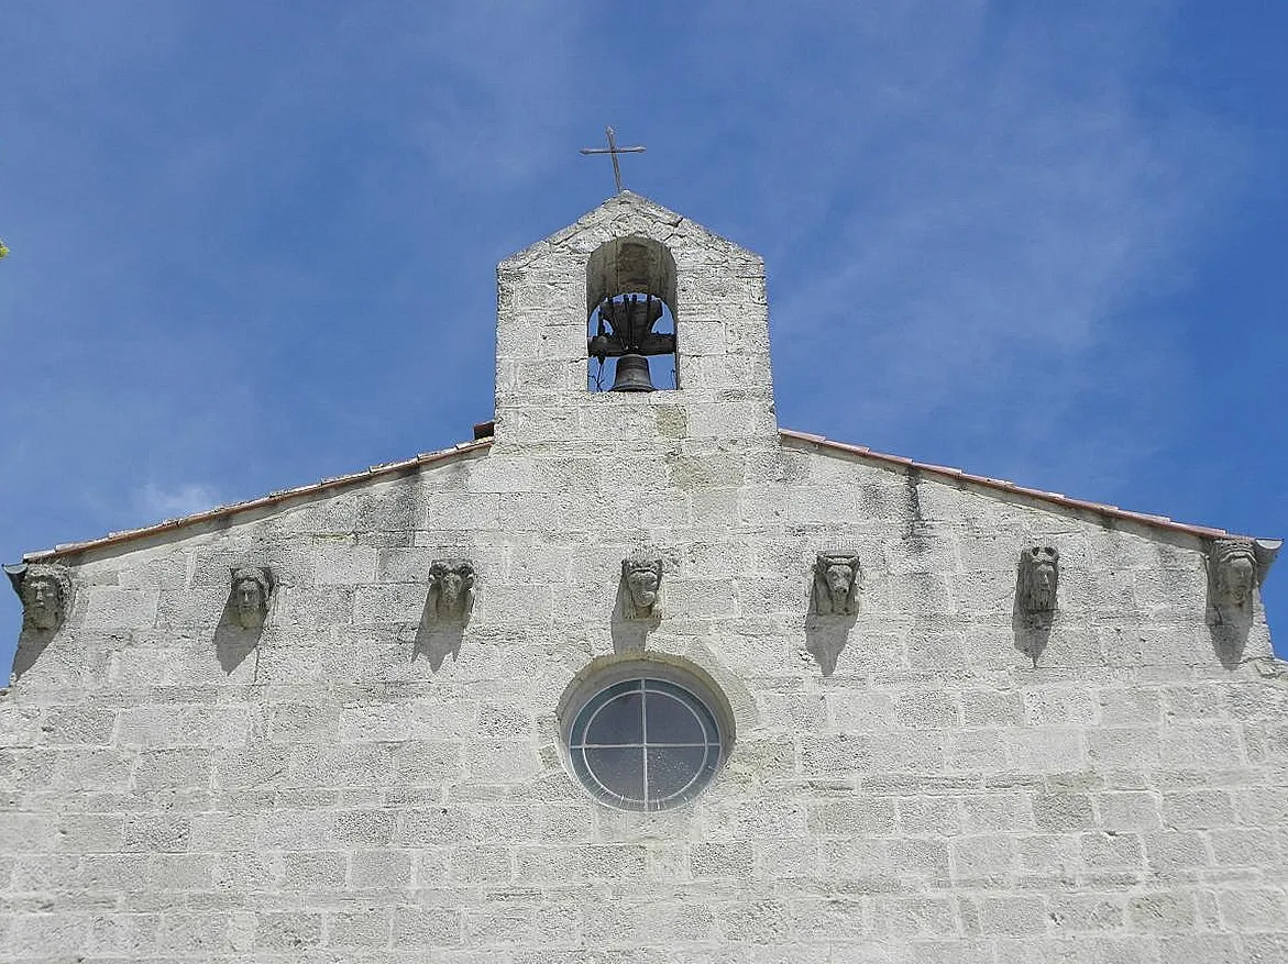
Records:
<instances>
[{"instance_id":1,"label":"stone bell gable with pointed top, holding the bell","mask_svg":"<svg viewBox=\"0 0 1288 964\"><path fill-rule=\"evenodd\" d=\"M638 349L622 348L621 314L604 320L635 300L656 336L644 329L636 390L611 390ZM773 405L761 259L675 211L622 192L497 265L498 447L774 447Z\"/></svg>"}]
</instances>

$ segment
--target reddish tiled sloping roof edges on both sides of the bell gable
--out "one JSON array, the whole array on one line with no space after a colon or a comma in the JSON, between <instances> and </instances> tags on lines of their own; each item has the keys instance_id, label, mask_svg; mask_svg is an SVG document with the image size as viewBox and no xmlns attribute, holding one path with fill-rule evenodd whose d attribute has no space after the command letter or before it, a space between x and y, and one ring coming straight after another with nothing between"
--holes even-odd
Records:
<instances>
[{"instance_id":1,"label":"reddish tiled sloping roof edges on both sides of the bell gable","mask_svg":"<svg viewBox=\"0 0 1288 964\"><path fill-rule=\"evenodd\" d=\"M475 435L483 431L489 431L489 423L483 422L475 426ZM850 445L842 441L833 441L823 435L811 435L810 432L793 431L791 429L779 429L778 434L786 441L792 441L799 445L813 447L824 454L833 456L858 456L859 458L884 465L890 468L896 468L902 471L917 471L925 472L927 475L938 476L948 481L961 481L970 485L978 485L984 489L990 489L993 492L1001 492L1010 496L1021 496L1025 498L1037 499L1038 502L1045 502L1050 506L1064 510L1074 510L1082 512L1092 512L1095 515L1103 516L1105 519L1115 519L1128 523L1136 523L1154 529L1162 529L1164 532L1184 533L1186 535L1194 535L1200 539L1212 538L1253 538L1253 537L1239 537L1225 529L1215 529L1207 525L1193 525L1189 523L1177 523L1167 516L1150 515L1146 512L1132 512L1126 508L1119 508L1118 506L1110 506L1101 502L1087 502L1084 499L1069 498L1068 496L1059 492L1045 492L1042 489L1032 489L1025 485L1016 485L1007 479L992 479L985 475L972 475L970 472L963 472L961 468L952 468L949 466L933 465L929 462L917 462L912 458L905 458L903 456L891 456L885 452L875 452L867 445ZM332 492L336 489L345 488L348 485L354 485L358 483L371 481L372 479L381 479L389 475L398 475L399 472L407 472L410 470L420 468L424 466L437 466L446 462L452 462L456 458L473 454L477 452L484 452L492 445L491 435L484 435L483 438L475 438L474 441L461 441L451 448L439 449L437 452L422 452L412 458L403 459L401 462L385 462L383 465L371 466L359 472L352 472L350 475L339 475L331 479L322 479L321 481L312 483L309 485L300 485L294 489L281 489L278 492L272 492L268 496L260 498L249 499L246 502L234 502L228 506L216 506L214 508L207 508L202 512L196 512L189 516L182 516L178 519L167 519L164 523L157 523L156 525L146 525L139 529L126 529L122 532L108 533L104 537L97 539L86 539L84 542L68 542L54 546L52 550L41 550L37 552L27 552L23 555L24 562L44 562L54 559L61 559L64 556L77 555L80 552L86 552L89 550L107 548L124 542L133 542L135 539L143 539L152 535L161 535L167 532L176 532L179 529L185 529L191 525L198 525L201 523L228 519L238 512L246 512L255 508L264 508L268 506L276 506L289 499L299 498L303 496L314 496L319 493ZM1275 553L1278 553L1282 539L1256 539L1258 550L1266 555L1266 564L1274 560Z\"/></svg>"}]
</instances>

